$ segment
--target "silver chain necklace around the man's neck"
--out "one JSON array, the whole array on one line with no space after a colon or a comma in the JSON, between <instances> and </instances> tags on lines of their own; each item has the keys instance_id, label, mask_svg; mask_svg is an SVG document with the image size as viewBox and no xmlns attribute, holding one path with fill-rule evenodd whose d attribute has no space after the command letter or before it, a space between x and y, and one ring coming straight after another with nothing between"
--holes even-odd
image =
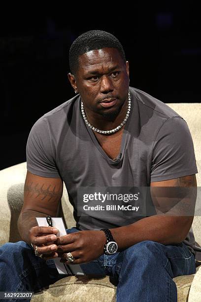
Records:
<instances>
[{"instance_id":1,"label":"silver chain necklace around the man's neck","mask_svg":"<svg viewBox=\"0 0 201 302\"><path fill-rule=\"evenodd\" d=\"M94 126L92 126L88 119L87 119L87 116L86 116L86 113L85 113L85 110L84 110L84 105L81 101L81 113L82 113L82 116L83 116L83 119L85 121L85 123L87 124L87 126L89 126L92 130L98 132L98 133L101 133L101 134L111 134L111 133L115 133L117 132L119 129L121 129L121 127L126 123L128 117L129 117L129 114L131 112L131 95L130 95L130 92L128 92L128 96L129 96L129 100L128 100L128 110L127 110L127 113L126 113L126 116L124 118L124 120L122 121L122 123L117 126L116 128L112 129L112 130L99 130L98 128L95 128Z\"/></svg>"}]
</instances>

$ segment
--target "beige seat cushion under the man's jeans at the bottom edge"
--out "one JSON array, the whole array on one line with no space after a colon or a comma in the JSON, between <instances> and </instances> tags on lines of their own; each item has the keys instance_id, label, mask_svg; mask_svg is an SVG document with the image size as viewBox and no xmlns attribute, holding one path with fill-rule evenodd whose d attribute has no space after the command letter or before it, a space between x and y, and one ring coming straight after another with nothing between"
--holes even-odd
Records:
<instances>
[{"instance_id":1,"label":"beige seat cushion under the man's jeans at the bottom edge","mask_svg":"<svg viewBox=\"0 0 201 302\"><path fill-rule=\"evenodd\" d=\"M199 267L197 267L197 270ZM189 290L194 276L195 274L173 278L177 287L178 302L188 301ZM33 295L32 301L115 302L116 286L109 276L102 278L69 276Z\"/></svg>"}]
</instances>

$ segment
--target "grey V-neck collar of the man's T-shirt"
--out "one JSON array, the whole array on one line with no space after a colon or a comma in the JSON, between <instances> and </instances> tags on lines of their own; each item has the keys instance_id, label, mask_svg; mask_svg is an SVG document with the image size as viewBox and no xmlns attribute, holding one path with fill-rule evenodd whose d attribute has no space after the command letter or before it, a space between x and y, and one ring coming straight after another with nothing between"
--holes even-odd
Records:
<instances>
[{"instance_id":1,"label":"grey V-neck collar of the man's T-shirt","mask_svg":"<svg viewBox=\"0 0 201 302\"><path fill-rule=\"evenodd\" d=\"M131 94L131 92L130 92ZM98 139L96 138L96 135L94 134L93 130L88 127L82 117L82 113L81 113L81 110L80 110L80 115L81 115L81 118L82 118L82 121L85 125L85 128L87 129L95 147L99 150L100 154L107 160L107 162L109 164L112 164L112 165L117 165L119 164L123 157L124 157L124 152L125 152L125 141L126 141L126 136L127 136L127 133L128 133L128 129L129 129L129 125L130 125L130 120L131 120L131 116L132 116L132 113L133 113L133 102L134 102L134 98L131 94L131 112L130 112L130 116L125 124L125 127L123 129L123 134L122 134L122 139L121 139L121 147L120 147L120 152L119 152L119 155L114 159L110 158L106 152L102 149L102 147L100 146L99 142L98 142ZM81 107L81 98L79 98L79 108Z\"/></svg>"}]
</instances>

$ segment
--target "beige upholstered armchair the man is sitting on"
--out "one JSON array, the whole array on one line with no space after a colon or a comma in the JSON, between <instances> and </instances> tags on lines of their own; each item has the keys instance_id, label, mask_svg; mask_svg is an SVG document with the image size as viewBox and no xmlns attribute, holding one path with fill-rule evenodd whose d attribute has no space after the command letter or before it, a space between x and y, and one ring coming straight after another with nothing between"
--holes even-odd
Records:
<instances>
[{"instance_id":1,"label":"beige upholstered armchair the man is sitting on","mask_svg":"<svg viewBox=\"0 0 201 302\"><path fill-rule=\"evenodd\" d=\"M201 172L201 104L167 105L187 121L194 141L198 170ZM0 245L8 241L21 240L17 230L17 219L23 204L25 176L26 162L0 171ZM197 183L201 186L200 174L197 174ZM61 204L62 208L58 209L58 216L64 213L67 227L75 226L66 188ZM201 217L194 218L193 230L197 242L201 245ZM195 275L178 276L174 281L177 286L178 301L201 301L201 266L197 268ZM115 302L116 287L108 276L99 279L71 276L34 295L32 301Z\"/></svg>"}]
</instances>

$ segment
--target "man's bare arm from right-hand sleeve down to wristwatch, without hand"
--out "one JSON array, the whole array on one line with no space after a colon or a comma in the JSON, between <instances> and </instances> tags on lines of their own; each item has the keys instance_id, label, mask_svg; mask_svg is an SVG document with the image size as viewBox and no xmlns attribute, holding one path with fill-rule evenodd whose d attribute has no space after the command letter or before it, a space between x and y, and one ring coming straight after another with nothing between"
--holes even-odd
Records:
<instances>
[{"instance_id":1,"label":"man's bare arm from right-hand sleeve down to wristwatch, without hand","mask_svg":"<svg viewBox=\"0 0 201 302\"><path fill-rule=\"evenodd\" d=\"M156 198L158 187L164 187L165 190L162 197ZM164 196L168 196L166 190L167 187L197 187L196 176L189 175L172 180L152 182L151 183L151 196L154 204L157 204L156 208L164 208ZM170 188L169 188L170 190ZM191 202L195 207L196 195L194 190L191 190L192 194L186 200L187 203ZM177 204L178 204L177 200ZM165 205L172 203L172 198L169 200L166 198ZM175 203L175 200L174 200ZM174 207L172 207L174 208ZM177 215L179 210L176 211ZM128 248L135 243L144 240L152 240L162 244L177 244L182 242L193 223L193 216L175 216L175 211L169 210L167 213L157 214L155 216L143 218L134 224L117 227L110 229L114 239L117 241L119 250Z\"/></svg>"}]
</instances>

